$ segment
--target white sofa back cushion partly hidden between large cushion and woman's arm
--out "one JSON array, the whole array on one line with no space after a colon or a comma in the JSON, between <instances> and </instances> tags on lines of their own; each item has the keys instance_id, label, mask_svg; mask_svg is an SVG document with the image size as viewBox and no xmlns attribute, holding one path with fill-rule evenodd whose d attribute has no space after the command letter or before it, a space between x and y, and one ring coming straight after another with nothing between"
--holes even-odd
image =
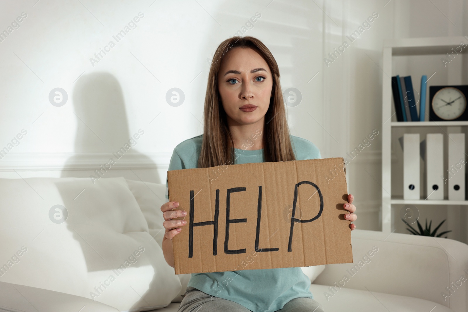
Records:
<instances>
[{"instance_id":1,"label":"white sofa back cushion partly hidden between large cushion and woman's arm","mask_svg":"<svg viewBox=\"0 0 468 312\"><path fill-rule=\"evenodd\" d=\"M137 200L141 212L146 218L148 223L148 229L151 237L158 242L159 246L162 248L162 238L164 236L164 227L162 223L164 222L164 217L162 216L161 206L163 203L166 203L168 200L164 196L166 192L166 184L151 183L151 182L142 182L134 180L126 180L130 190ZM174 272L174 269L173 269ZM183 294L187 289L187 284L189 283L191 274L179 274L177 275L180 283L181 289L179 293L172 299L172 302L181 302L183 299Z\"/></svg>"}]
</instances>

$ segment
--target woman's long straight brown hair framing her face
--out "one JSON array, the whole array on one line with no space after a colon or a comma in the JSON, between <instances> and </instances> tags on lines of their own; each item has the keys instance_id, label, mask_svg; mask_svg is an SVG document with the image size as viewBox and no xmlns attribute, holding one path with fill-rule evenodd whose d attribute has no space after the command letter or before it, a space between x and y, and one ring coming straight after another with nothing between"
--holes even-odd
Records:
<instances>
[{"instance_id":1,"label":"woman's long straight brown hair framing her face","mask_svg":"<svg viewBox=\"0 0 468 312\"><path fill-rule=\"evenodd\" d=\"M251 36L233 36L219 44L213 56L208 86L206 87L204 120L205 130L198 167L214 167L234 163L234 141L227 126L226 111L218 90L218 72L229 49L249 47L257 51L270 66L273 78L270 106L263 127L263 155L265 161L295 160L286 120L283 94L279 84L279 69L270 50Z\"/></svg>"}]
</instances>

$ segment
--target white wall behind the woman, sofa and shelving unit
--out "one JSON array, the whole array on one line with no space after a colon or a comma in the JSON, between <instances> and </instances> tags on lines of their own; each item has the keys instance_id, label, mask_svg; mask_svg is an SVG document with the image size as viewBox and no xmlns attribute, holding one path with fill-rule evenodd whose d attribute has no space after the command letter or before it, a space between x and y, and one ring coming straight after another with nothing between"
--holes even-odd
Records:
<instances>
[{"instance_id":1,"label":"white wall behind the woman, sofa and shelving unit","mask_svg":"<svg viewBox=\"0 0 468 312\"><path fill-rule=\"evenodd\" d=\"M314 142L323 158L346 157L380 131L384 39L467 34L466 1L455 0L36 1L1 3L0 31L28 15L0 42L0 149L27 131L0 160L1 177L87 177L141 129L104 177L164 182L174 147L203 131L207 58L256 12L261 17L243 35L270 48L283 90L300 90L301 104L287 107L291 132ZM112 36L139 12L136 28L116 42ZM327 65L328 53L373 12L371 28ZM93 65L110 40L115 47ZM48 100L56 87L68 94L64 106ZM165 100L173 87L185 94L181 106ZM380 136L371 142L347 177L357 227L379 230Z\"/></svg>"}]
</instances>

